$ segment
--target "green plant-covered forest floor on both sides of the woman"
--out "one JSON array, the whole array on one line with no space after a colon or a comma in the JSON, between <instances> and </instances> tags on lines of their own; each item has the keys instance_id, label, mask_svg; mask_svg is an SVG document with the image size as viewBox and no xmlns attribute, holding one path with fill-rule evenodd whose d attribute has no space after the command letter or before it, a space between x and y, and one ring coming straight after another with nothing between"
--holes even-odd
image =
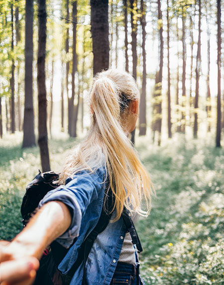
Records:
<instances>
[{"instance_id":1,"label":"green plant-covered forest floor on both sides of the woman","mask_svg":"<svg viewBox=\"0 0 224 285\"><path fill-rule=\"evenodd\" d=\"M21 149L22 134L0 140L0 239L21 230L25 187L38 173L38 147ZM51 168L60 171L74 139L49 141ZM137 229L146 284L224 284L224 149L181 135L162 147L137 140L156 196Z\"/></svg>"}]
</instances>

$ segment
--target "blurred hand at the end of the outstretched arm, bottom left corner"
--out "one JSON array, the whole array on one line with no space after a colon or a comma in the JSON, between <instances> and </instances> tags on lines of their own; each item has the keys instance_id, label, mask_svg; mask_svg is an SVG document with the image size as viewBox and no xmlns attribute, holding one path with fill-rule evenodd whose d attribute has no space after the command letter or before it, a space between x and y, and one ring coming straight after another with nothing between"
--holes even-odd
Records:
<instances>
[{"instance_id":1,"label":"blurred hand at the end of the outstretched arm, bottom left corner","mask_svg":"<svg viewBox=\"0 0 224 285\"><path fill-rule=\"evenodd\" d=\"M35 257L13 259L7 252L7 242L0 242L0 284L1 285L31 285L39 268Z\"/></svg>"}]
</instances>

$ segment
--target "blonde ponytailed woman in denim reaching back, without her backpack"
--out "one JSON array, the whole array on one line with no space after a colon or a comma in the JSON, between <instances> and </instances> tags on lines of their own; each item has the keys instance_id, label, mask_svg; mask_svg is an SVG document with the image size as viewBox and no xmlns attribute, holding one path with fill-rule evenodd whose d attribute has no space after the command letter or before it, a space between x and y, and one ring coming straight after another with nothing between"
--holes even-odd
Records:
<instances>
[{"instance_id":1,"label":"blonde ponytailed woman in denim reaching back, without her backpack","mask_svg":"<svg viewBox=\"0 0 224 285\"><path fill-rule=\"evenodd\" d=\"M63 274L68 273L85 236L94 229L106 205L104 197L107 197L109 181L114 197L112 220L91 249L86 281L90 285L142 284L135 248L129 233L125 235L121 216L123 207L144 216L150 209L150 178L127 138L136 124L138 101L139 92L129 74L107 70L95 77L90 93L92 122L87 138L67 159L60 177L61 186L41 200L37 214L2 253L2 261L39 259L44 248L55 239L69 248L77 237L59 265ZM140 207L142 196L146 211ZM72 285L82 284L83 272L81 264ZM26 276L24 284L31 284L32 278Z\"/></svg>"}]
</instances>

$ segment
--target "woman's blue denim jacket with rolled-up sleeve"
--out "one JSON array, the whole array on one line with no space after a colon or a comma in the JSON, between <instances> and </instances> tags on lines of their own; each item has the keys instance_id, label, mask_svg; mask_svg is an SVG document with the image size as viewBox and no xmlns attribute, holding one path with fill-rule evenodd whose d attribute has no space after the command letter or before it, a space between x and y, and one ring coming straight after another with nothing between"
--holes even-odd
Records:
<instances>
[{"instance_id":1,"label":"woman's blue denim jacket with rolled-up sleeve","mask_svg":"<svg viewBox=\"0 0 224 285\"><path fill-rule=\"evenodd\" d=\"M72 222L69 229L57 242L66 248L73 243L58 269L66 274L75 263L80 245L95 228L100 218L104 201L106 168L94 173L82 171L66 180L66 184L48 192L40 201L39 207L52 200L59 200L72 209ZM114 213L115 214L115 213ZM98 235L86 263L86 280L90 285L110 285L122 248L125 226L123 219L109 223ZM81 285L83 263L75 272L71 285Z\"/></svg>"}]
</instances>

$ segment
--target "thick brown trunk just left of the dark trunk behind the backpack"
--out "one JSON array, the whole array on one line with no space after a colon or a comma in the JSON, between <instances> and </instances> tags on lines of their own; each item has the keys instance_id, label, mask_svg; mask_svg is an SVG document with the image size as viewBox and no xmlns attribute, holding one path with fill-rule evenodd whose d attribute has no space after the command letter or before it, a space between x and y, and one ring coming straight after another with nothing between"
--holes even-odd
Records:
<instances>
[{"instance_id":1,"label":"thick brown trunk just left of the dark trunk behind the backpack","mask_svg":"<svg viewBox=\"0 0 224 285\"><path fill-rule=\"evenodd\" d=\"M25 11L25 102L23 148L36 145L33 112L33 0L26 0Z\"/></svg>"}]
</instances>

